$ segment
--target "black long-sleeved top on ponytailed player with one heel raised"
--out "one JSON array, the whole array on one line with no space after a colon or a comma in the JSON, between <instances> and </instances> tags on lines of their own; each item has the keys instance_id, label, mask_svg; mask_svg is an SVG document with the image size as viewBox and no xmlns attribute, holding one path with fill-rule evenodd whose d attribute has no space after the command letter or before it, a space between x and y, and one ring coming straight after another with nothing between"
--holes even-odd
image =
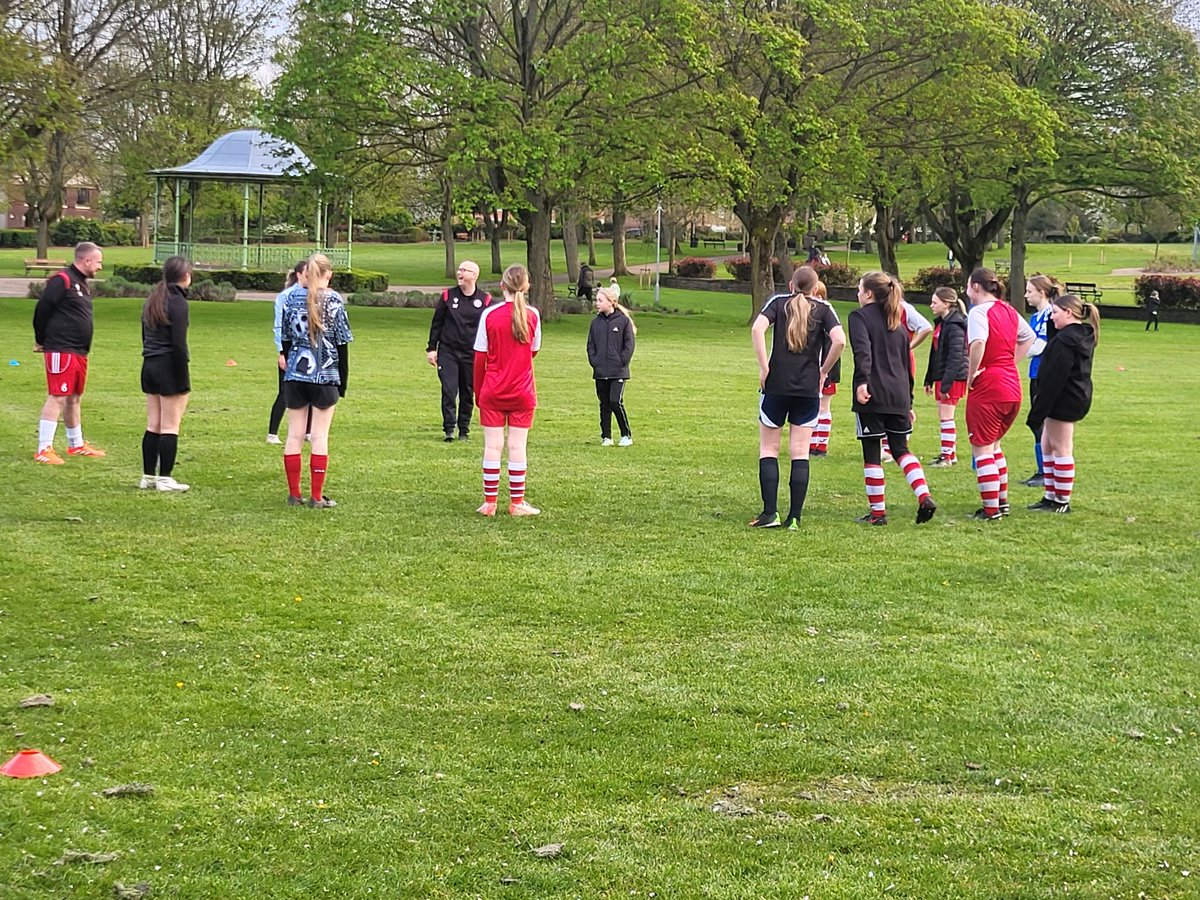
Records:
<instances>
[{"instance_id":1,"label":"black long-sleeved top on ponytailed player with one heel raised","mask_svg":"<svg viewBox=\"0 0 1200 900\"><path fill-rule=\"evenodd\" d=\"M912 364L904 323L888 331L881 304L866 304L850 313L850 346L854 352L856 413L907 415L912 409ZM871 392L858 402L858 385Z\"/></svg>"}]
</instances>

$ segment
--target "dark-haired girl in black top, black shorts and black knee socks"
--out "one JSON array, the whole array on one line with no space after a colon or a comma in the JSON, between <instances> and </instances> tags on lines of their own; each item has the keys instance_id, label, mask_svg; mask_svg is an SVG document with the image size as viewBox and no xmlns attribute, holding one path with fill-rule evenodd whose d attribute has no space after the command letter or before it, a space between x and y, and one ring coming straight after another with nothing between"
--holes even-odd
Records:
<instances>
[{"instance_id":1,"label":"dark-haired girl in black top, black shorts and black knee socks","mask_svg":"<svg viewBox=\"0 0 1200 900\"><path fill-rule=\"evenodd\" d=\"M170 473L179 452L179 425L192 390L187 371L187 288L192 264L170 257L162 281L142 307L142 392L146 395L146 431L142 436L142 490L182 492Z\"/></svg>"}]
</instances>

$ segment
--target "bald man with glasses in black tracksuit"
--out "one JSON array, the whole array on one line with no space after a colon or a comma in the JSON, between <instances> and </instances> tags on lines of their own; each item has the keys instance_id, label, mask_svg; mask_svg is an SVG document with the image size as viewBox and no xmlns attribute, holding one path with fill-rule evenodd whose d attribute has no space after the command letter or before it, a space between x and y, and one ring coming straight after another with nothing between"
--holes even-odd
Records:
<instances>
[{"instance_id":1,"label":"bald man with glasses in black tracksuit","mask_svg":"<svg viewBox=\"0 0 1200 900\"><path fill-rule=\"evenodd\" d=\"M478 287L476 263L462 260L456 275L458 283L442 292L442 300L433 310L430 343L425 348L425 358L437 367L442 382L442 432L448 444L454 440L456 422L458 440L467 440L470 436L470 416L475 410L472 401L475 355L472 348L479 319L492 302L492 295Z\"/></svg>"}]
</instances>

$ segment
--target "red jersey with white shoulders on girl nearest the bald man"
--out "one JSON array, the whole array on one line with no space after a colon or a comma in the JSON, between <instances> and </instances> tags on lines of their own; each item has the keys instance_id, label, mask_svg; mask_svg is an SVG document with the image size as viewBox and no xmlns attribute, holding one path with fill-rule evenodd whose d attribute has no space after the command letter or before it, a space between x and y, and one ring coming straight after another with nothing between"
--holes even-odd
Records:
<instances>
[{"instance_id":1,"label":"red jersey with white shoulders on girl nearest the bald man","mask_svg":"<svg viewBox=\"0 0 1200 900\"><path fill-rule=\"evenodd\" d=\"M480 409L514 413L538 407L533 358L541 349L541 314L526 307L529 343L512 336L512 302L484 310L475 332L475 400Z\"/></svg>"}]
</instances>

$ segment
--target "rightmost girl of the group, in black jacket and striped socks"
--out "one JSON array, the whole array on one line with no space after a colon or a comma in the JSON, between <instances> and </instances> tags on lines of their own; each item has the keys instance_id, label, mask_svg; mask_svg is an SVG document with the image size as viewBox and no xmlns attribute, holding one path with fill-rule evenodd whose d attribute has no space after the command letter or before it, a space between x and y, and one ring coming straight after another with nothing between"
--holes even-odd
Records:
<instances>
[{"instance_id":1,"label":"rightmost girl of the group, in black jacket and striped socks","mask_svg":"<svg viewBox=\"0 0 1200 900\"><path fill-rule=\"evenodd\" d=\"M1070 512L1075 486L1075 422L1092 408L1092 356L1100 341L1100 313L1074 294L1050 305L1054 336L1038 371L1038 396L1030 407L1030 427L1042 432L1045 496L1028 509Z\"/></svg>"}]
</instances>

